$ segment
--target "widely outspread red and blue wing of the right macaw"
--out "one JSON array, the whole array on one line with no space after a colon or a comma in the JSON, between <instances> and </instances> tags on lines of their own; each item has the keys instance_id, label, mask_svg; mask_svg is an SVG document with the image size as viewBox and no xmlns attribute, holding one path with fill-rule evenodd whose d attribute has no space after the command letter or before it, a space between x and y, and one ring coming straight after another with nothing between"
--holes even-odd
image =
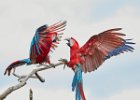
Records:
<instances>
[{"instance_id":1,"label":"widely outspread red and blue wing of the right macaw","mask_svg":"<svg viewBox=\"0 0 140 100\"><path fill-rule=\"evenodd\" d=\"M80 48L82 70L84 72L94 71L112 56L134 50L128 44L135 43L128 42L131 39L123 39L122 36L125 36L125 34L118 32L119 30L121 28L110 29L94 35Z\"/></svg>"}]
</instances>

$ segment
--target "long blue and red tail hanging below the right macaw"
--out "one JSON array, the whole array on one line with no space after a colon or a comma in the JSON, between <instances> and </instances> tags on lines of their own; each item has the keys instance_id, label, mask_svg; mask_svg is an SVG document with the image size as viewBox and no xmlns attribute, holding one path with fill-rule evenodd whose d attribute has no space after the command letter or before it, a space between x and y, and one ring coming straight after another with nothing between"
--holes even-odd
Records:
<instances>
[{"instance_id":1,"label":"long blue and red tail hanging below the right macaw","mask_svg":"<svg viewBox=\"0 0 140 100\"><path fill-rule=\"evenodd\" d=\"M86 100L84 91L83 91L83 79L82 79L82 69L80 64L77 65L75 69L75 75L72 82L72 91L76 89L76 100Z\"/></svg>"}]
</instances>

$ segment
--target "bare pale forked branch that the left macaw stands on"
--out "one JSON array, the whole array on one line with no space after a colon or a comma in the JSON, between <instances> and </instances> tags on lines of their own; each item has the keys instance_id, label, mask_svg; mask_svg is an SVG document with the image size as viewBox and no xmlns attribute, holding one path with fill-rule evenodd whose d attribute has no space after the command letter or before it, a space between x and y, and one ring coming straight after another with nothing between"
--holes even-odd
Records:
<instances>
[{"instance_id":1,"label":"bare pale forked branch that the left macaw stands on","mask_svg":"<svg viewBox=\"0 0 140 100\"><path fill-rule=\"evenodd\" d=\"M53 66L52 65L41 64L44 67L41 67L41 68L39 67L37 69L33 69L28 75L21 75L21 76L15 74L15 70L14 70L13 75L18 78L19 83L17 85L14 85L14 86L9 87L2 94L0 94L0 100L5 99L10 93L12 93L13 91L18 90L21 87L23 87L24 85L26 85L26 82L30 78L37 78L41 82L44 82L45 79L43 79L37 72L43 71L43 70L46 70L46 69L49 69L49 68L54 68L54 67L57 67L57 66L60 66L60 65L63 65L63 64L65 64L65 63L64 62L59 62L57 64L54 64ZM35 74L35 76L33 76L34 74Z\"/></svg>"}]
</instances>

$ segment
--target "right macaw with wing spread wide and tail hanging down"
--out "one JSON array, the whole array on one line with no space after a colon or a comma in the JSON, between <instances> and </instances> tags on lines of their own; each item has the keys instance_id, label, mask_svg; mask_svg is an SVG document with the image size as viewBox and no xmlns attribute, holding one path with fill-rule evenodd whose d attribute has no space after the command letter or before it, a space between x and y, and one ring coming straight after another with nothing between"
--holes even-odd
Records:
<instances>
[{"instance_id":1,"label":"right macaw with wing spread wide and tail hanging down","mask_svg":"<svg viewBox=\"0 0 140 100\"><path fill-rule=\"evenodd\" d=\"M125 34L118 32L119 30L121 28L114 28L94 35L82 47L74 38L66 39L70 47L70 61L66 64L75 72L72 90L76 91L76 100L86 100L82 72L94 71L110 57L134 50L130 45L135 43L129 42L131 39L123 39Z\"/></svg>"}]
</instances>

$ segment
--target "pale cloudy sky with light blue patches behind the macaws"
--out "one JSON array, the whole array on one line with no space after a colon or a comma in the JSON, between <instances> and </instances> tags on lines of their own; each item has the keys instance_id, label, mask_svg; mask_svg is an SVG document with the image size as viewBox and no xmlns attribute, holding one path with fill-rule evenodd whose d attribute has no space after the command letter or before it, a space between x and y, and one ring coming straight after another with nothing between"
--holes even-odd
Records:
<instances>
[{"instance_id":1,"label":"pale cloudy sky with light blue patches behind the macaws","mask_svg":"<svg viewBox=\"0 0 140 100\"><path fill-rule=\"evenodd\" d=\"M121 27L127 38L136 43L133 53L121 54L107 60L98 70L84 74L87 100L140 99L140 1L139 0L0 0L0 93L17 84L13 76L4 76L13 61L27 58L35 30L66 20L63 39L75 37L82 46L92 35L110 28ZM69 59L65 41L51 54L51 61ZM36 66L23 66L17 73L28 74ZM10 94L6 100L27 100L33 89L34 100L74 100L71 91L74 73L60 66L40 74L45 83L30 79L26 86ZM18 96L17 96L18 95Z\"/></svg>"}]
</instances>

